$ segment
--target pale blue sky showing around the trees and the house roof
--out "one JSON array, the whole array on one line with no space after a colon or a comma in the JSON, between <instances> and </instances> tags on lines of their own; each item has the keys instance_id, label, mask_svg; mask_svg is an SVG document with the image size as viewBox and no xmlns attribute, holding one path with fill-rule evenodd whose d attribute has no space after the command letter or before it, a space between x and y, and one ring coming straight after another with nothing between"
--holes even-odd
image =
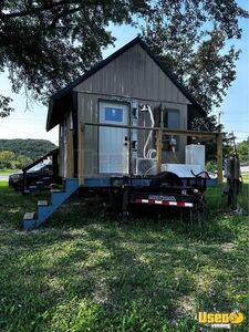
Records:
<instances>
[{"instance_id":1,"label":"pale blue sky showing around the trees and the house roof","mask_svg":"<svg viewBox=\"0 0 249 332\"><path fill-rule=\"evenodd\" d=\"M245 0L238 1L241 6ZM248 20L249 21L249 20ZM241 50L240 59L237 62L237 79L228 90L222 105L214 110L214 114L220 113L220 121L225 132L234 132L237 142L249 136L249 22L240 20L243 29L242 38L232 41L236 49ZM111 27L116 38L115 46L103 51L103 58L129 42L137 35L137 31L129 27ZM230 45L229 44L229 45ZM24 93L13 94L8 81L8 74L0 75L0 93L13 98L15 111L6 118L0 118L0 138L43 138L58 145L58 127L50 132L45 131L48 107L33 103L31 110L25 110Z\"/></svg>"}]
</instances>

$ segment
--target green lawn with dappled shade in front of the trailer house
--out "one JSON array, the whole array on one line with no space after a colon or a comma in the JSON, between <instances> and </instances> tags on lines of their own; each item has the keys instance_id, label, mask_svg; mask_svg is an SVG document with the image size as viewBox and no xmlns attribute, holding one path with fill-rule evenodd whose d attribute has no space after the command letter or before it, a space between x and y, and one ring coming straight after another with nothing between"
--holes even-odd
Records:
<instances>
[{"instance_id":1,"label":"green lawn with dappled shade in front of the trailer house","mask_svg":"<svg viewBox=\"0 0 249 332\"><path fill-rule=\"evenodd\" d=\"M41 229L20 231L40 198L0 183L1 332L190 332L199 310L247 315L248 185L243 215L208 189L201 226L122 221L72 199Z\"/></svg>"}]
</instances>

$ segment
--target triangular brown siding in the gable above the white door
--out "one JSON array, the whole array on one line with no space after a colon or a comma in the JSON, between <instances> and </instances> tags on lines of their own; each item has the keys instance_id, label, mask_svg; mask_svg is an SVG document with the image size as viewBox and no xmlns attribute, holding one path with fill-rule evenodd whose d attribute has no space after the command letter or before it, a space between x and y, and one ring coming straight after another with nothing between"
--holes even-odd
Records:
<instances>
[{"instance_id":1,"label":"triangular brown siding in the gable above the white door","mask_svg":"<svg viewBox=\"0 0 249 332\"><path fill-rule=\"evenodd\" d=\"M113 60L74 90L106 96L189 103L139 44Z\"/></svg>"}]
</instances>

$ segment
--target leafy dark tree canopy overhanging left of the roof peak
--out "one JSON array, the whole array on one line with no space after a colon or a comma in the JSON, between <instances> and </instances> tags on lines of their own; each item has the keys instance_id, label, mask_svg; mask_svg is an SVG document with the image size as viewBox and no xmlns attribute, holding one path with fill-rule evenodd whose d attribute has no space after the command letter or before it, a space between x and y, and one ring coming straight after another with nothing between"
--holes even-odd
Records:
<instances>
[{"instance_id":1,"label":"leafy dark tree canopy overhanging left of the roof peak","mask_svg":"<svg viewBox=\"0 0 249 332\"><path fill-rule=\"evenodd\" d=\"M101 60L114 42L110 22L133 24L148 10L146 0L3 0L0 70L8 68L13 92L24 87L44 102Z\"/></svg>"}]
</instances>

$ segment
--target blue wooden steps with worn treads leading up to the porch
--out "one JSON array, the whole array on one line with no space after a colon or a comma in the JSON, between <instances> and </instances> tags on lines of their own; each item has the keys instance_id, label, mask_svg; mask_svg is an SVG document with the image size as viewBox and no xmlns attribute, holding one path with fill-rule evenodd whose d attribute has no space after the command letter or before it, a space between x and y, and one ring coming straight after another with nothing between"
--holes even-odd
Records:
<instances>
[{"instance_id":1,"label":"blue wooden steps with worn treads leading up to the porch","mask_svg":"<svg viewBox=\"0 0 249 332\"><path fill-rule=\"evenodd\" d=\"M43 224L79 187L77 178L66 178L64 190L51 189L51 203L38 201L38 209L34 212L27 212L23 217L23 229L30 230Z\"/></svg>"}]
</instances>

